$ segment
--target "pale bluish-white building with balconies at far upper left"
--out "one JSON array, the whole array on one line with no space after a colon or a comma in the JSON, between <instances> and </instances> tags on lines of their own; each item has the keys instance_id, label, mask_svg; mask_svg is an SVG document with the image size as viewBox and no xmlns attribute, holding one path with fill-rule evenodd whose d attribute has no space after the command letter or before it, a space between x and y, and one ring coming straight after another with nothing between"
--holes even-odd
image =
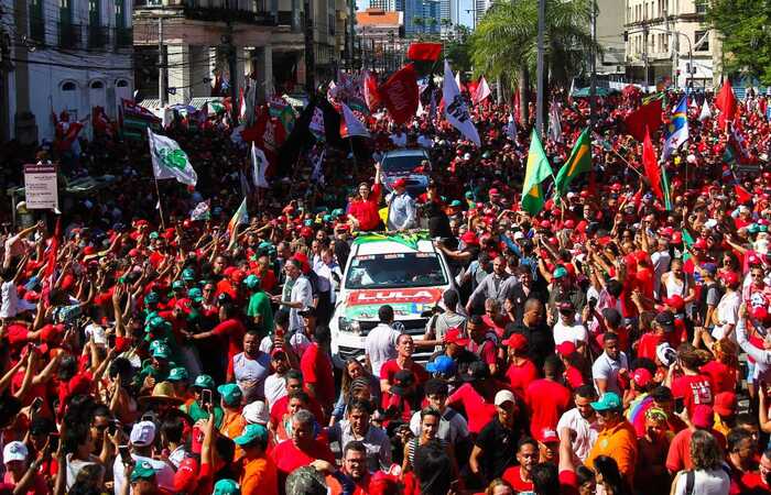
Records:
<instances>
[{"instance_id":1,"label":"pale bluish-white building with balconies at far upper left","mask_svg":"<svg viewBox=\"0 0 771 495\"><path fill-rule=\"evenodd\" d=\"M132 0L0 0L0 139L53 140L52 112L75 121L102 107L117 117L134 86Z\"/></svg>"}]
</instances>

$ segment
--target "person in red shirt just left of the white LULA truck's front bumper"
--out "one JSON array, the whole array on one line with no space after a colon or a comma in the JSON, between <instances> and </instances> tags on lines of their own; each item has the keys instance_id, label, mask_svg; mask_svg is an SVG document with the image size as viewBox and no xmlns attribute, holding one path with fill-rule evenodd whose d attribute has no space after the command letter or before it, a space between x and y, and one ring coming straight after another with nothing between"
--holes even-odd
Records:
<instances>
[{"instance_id":1,"label":"person in red shirt just left of the white LULA truck's front bumper","mask_svg":"<svg viewBox=\"0 0 771 495\"><path fill-rule=\"evenodd\" d=\"M314 342L305 350L300 360L305 388L315 398L325 413L330 413L335 404L335 376L329 358L329 327L318 326L314 330Z\"/></svg>"}]
</instances>

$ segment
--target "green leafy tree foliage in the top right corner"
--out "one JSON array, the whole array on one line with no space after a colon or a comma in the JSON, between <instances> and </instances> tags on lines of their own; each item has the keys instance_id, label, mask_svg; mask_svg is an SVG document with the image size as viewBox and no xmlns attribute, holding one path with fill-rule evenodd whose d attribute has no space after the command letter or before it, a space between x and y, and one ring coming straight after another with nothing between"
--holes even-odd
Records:
<instances>
[{"instance_id":1,"label":"green leafy tree foliage in the top right corner","mask_svg":"<svg viewBox=\"0 0 771 495\"><path fill-rule=\"evenodd\" d=\"M714 0L708 20L723 38L723 72L771 85L771 1Z\"/></svg>"}]
</instances>

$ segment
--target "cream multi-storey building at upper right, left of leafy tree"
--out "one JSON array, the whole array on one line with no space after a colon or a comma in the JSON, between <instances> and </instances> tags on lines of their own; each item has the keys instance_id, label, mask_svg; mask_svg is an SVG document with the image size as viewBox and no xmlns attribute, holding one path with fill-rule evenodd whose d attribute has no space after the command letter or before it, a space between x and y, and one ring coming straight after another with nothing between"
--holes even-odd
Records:
<instances>
[{"instance_id":1,"label":"cream multi-storey building at upper right, left of leafy tree","mask_svg":"<svg viewBox=\"0 0 771 495\"><path fill-rule=\"evenodd\" d=\"M627 76L634 82L712 88L719 40L708 0L626 0Z\"/></svg>"}]
</instances>

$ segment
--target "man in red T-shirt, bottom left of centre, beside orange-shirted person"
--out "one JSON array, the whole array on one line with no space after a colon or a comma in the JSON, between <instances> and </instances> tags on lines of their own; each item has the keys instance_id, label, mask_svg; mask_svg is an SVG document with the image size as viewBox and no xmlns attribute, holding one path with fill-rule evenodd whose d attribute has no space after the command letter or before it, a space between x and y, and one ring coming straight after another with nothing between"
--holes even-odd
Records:
<instances>
[{"instance_id":1,"label":"man in red T-shirt, bottom left of centre, beside orange-shirted person","mask_svg":"<svg viewBox=\"0 0 771 495\"><path fill-rule=\"evenodd\" d=\"M301 409L292 416L292 438L273 448L271 457L279 470L279 492L284 494L286 476L295 469L321 459L335 462L329 447L315 438L316 420L313 414Z\"/></svg>"}]
</instances>

